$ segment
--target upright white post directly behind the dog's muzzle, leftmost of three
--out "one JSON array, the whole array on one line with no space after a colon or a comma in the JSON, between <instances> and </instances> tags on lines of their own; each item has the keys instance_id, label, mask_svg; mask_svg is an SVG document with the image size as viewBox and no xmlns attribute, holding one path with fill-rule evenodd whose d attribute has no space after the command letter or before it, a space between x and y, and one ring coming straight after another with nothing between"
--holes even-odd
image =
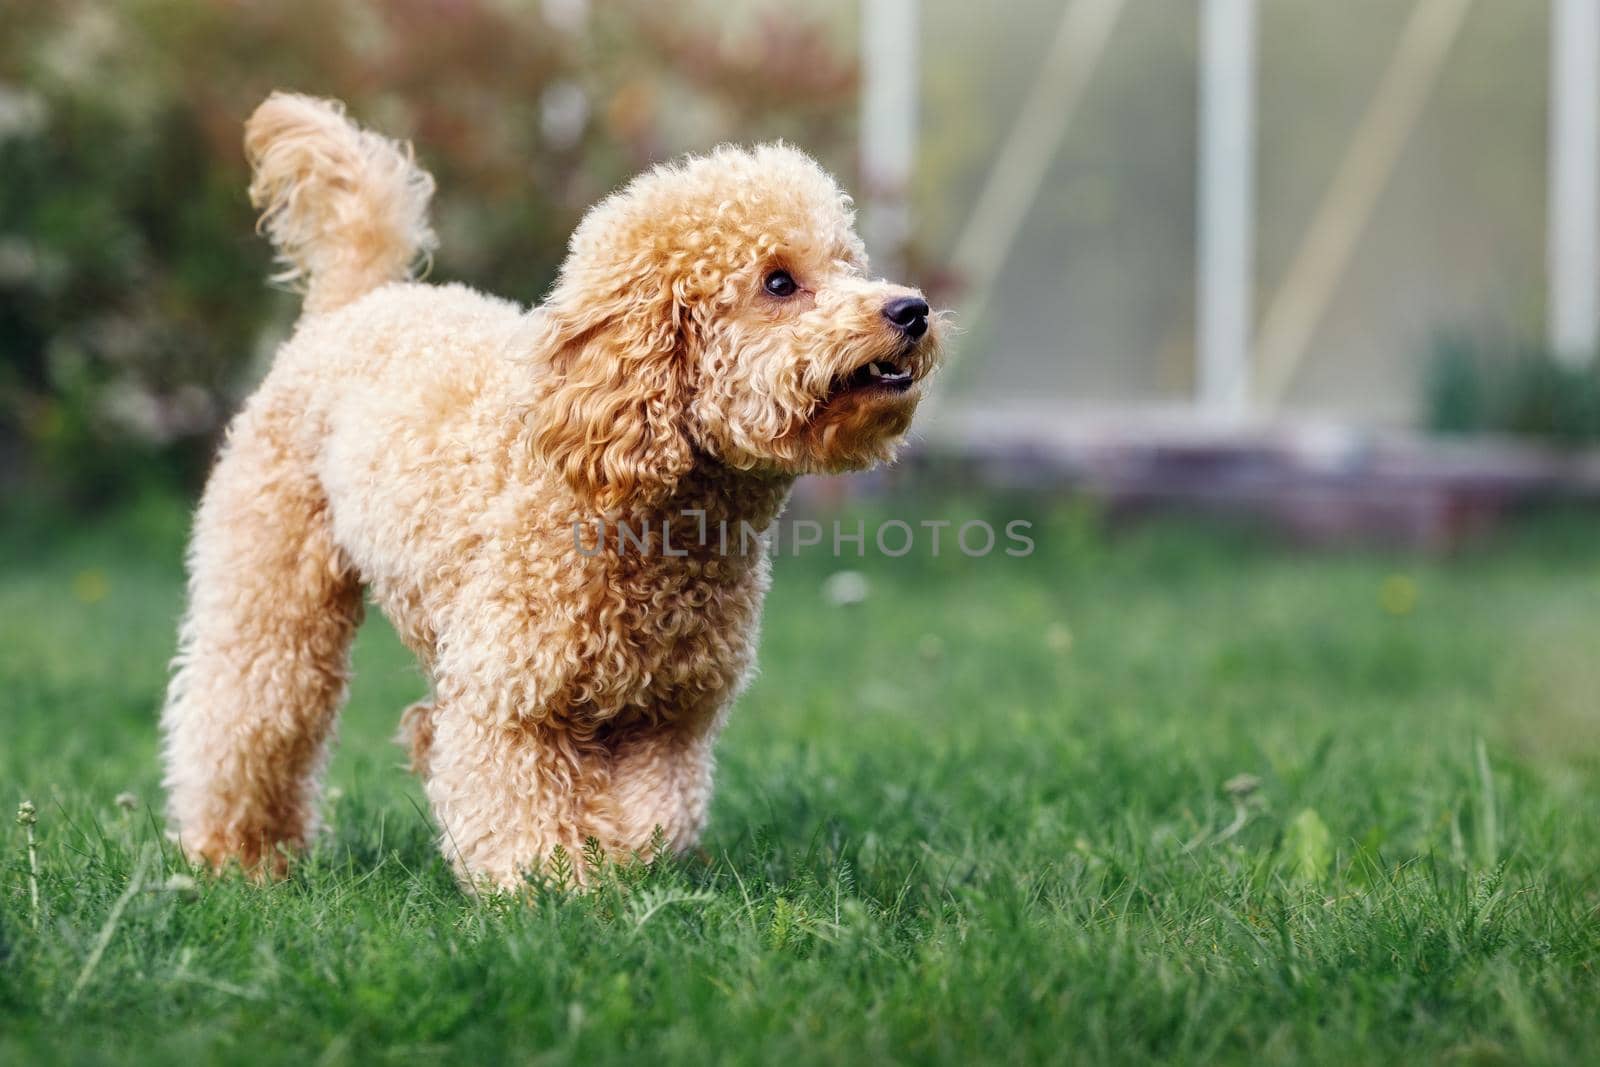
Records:
<instances>
[{"instance_id":1,"label":"upright white post directly behind the dog's muzzle, leftmost of three","mask_svg":"<svg viewBox=\"0 0 1600 1067\"><path fill-rule=\"evenodd\" d=\"M861 182L874 270L902 280L917 157L917 0L861 3Z\"/></svg>"}]
</instances>

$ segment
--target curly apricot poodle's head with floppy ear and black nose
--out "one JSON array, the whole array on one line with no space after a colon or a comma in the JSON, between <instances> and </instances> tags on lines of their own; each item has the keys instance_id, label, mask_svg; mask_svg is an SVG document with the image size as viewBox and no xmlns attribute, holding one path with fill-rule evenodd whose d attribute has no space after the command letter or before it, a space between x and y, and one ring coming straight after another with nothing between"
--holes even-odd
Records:
<instances>
[{"instance_id":1,"label":"curly apricot poodle's head with floppy ear and black nose","mask_svg":"<svg viewBox=\"0 0 1600 1067\"><path fill-rule=\"evenodd\" d=\"M872 280L850 198L786 146L659 166L598 203L538 314L534 448L602 509L698 458L850 470L893 458L939 315Z\"/></svg>"}]
</instances>

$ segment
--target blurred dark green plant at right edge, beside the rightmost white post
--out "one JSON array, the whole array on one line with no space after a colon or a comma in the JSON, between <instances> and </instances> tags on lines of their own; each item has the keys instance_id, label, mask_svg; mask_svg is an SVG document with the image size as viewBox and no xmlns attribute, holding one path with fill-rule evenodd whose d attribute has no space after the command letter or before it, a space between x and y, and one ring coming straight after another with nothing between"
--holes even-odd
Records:
<instances>
[{"instance_id":1,"label":"blurred dark green plant at right edge, beside the rightmost white post","mask_svg":"<svg viewBox=\"0 0 1600 1067\"><path fill-rule=\"evenodd\" d=\"M1592 445L1600 442L1600 362L1571 365L1539 347L1440 338L1429 365L1427 419L1438 434Z\"/></svg>"}]
</instances>

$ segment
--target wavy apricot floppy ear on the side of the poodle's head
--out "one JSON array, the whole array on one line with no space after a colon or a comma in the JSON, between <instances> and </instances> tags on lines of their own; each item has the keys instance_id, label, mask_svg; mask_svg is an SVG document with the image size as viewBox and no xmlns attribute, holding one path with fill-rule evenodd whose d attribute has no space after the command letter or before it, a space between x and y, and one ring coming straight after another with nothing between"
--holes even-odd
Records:
<instances>
[{"instance_id":1,"label":"wavy apricot floppy ear on the side of the poodle's head","mask_svg":"<svg viewBox=\"0 0 1600 1067\"><path fill-rule=\"evenodd\" d=\"M611 286L605 299L552 294L549 378L530 413L534 454L600 512L662 502L694 464L677 301L667 286Z\"/></svg>"}]
</instances>

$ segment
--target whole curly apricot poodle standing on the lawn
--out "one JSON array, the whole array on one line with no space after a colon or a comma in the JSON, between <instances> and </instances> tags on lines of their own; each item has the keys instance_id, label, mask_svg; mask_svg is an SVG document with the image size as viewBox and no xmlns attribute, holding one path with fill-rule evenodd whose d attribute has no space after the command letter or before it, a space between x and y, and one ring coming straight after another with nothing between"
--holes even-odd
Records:
<instances>
[{"instance_id":1,"label":"whole curly apricot poodle standing on the lawn","mask_svg":"<svg viewBox=\"0 0 1600 1067\"><path fill-rule=\"evenodd\" d=\"M464 880L690 846L770 568L696 530L890 459L939 317L891 322L926 306L867 277L848 197L784 146L637 178L531 310L406 280L432 179L336 102L274 94L245 147L306 304L195 515L163 712L184 848L278 872L307 843L365 597L430 680L403 734ZM598 520L645 550L584 544Z\"/></svg>"}]
</instances>

